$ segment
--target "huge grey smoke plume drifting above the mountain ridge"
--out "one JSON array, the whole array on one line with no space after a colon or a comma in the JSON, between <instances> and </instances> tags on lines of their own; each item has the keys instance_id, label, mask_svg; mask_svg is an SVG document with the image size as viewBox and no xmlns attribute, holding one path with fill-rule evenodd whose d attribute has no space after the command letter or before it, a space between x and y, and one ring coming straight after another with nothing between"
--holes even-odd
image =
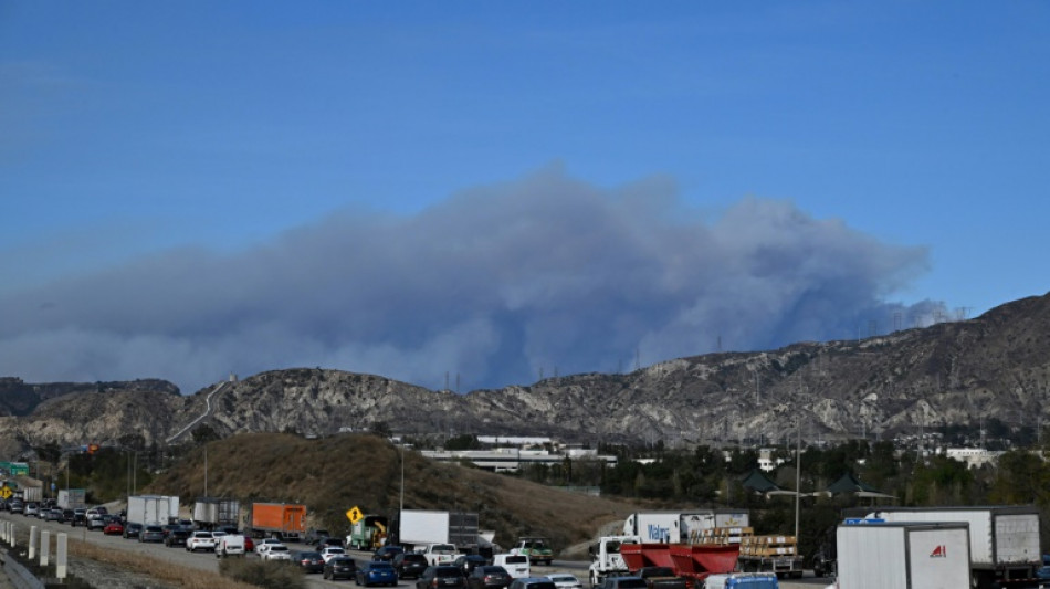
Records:
<instances>
[{"instance_id":1,"label":"huge grey smoke plume drifting above the mountain ridge","mask_svg":"<svg viewBox=\"0 0 1050 589\"><path fill-rule=\"evenodd\" d=\"M347 209L237 254L181 249L4 295L0 375L193 392L319 366L501 387L907 327L943 305L886 298L926 270L923 248L787 201L704 215L668 179L601 189L552 167L412 215Z\"/></svg>"}]
</instances>

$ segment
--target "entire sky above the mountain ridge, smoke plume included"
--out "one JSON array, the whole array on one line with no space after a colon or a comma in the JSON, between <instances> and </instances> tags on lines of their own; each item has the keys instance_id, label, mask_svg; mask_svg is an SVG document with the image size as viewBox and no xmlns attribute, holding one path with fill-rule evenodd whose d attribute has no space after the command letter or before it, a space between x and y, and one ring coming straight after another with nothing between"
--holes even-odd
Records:
<instances>
[{"instance_id":1,"label":"entire sky above the mountain ridge, smoke plume included","mask_svg":"<svg viewBox=\"0 0 1050 589\"><path fill-rule=\"evenodd\" d=\"M1041 295L1048 25L1035 1L0 2L0 375L468 390Z\"/></svg>"}]
</instances>

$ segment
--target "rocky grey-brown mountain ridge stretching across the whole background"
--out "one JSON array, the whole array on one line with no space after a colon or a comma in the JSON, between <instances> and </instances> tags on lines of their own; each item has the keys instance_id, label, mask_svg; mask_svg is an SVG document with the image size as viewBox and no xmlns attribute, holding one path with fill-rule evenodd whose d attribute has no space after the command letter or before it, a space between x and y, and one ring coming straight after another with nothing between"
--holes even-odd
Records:
<instances>
[{"instance_id":1,"label":"rocky grey-brown mountain ridge stretching across the whole background","mask_svg":"<svg viewBox=\"0 0 1050 589\"><path fill-rule=\"evenodd\" d=\"M162 441L207 412L212 390L180 397L170 383L147 380L56 389L6 379L0 387L0 407L11 413L0 418L0 451L129 434ZM273 370L224 386L202 422L222 434L323 435L381 422L411 434L778 439L794 431L796 419L808 435L890 433L980 417L1035 425L1048 414L1048 387L1050 296L1041 296L970 320L868 339L696 356L631 374L466 395L338 370Z\"/></svg>"}]
</instances>

